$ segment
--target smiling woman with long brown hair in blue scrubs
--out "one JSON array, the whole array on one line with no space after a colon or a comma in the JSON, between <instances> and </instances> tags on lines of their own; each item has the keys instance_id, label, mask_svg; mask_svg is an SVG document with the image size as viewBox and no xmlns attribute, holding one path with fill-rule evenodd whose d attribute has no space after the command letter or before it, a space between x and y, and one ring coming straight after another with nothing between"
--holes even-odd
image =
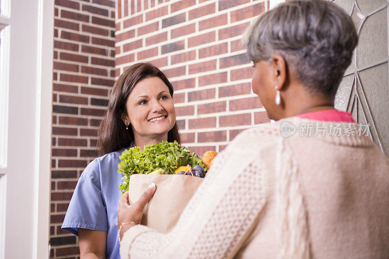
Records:
<instances>
[{"instance_id":1,"label":"smiling woman with long brown hair in blue scrubs","mask_svg":"<svg viewBox=\"0 0 389 259\"><path fill-rule=\"evenodd\" d=\"M124 149L167 140L180 143L173 86L148 63L119 76L98 131L99 156L78 180L62 229L78 237L81 258L119 258L119 156Z\"/></svg>"}]
</instances>

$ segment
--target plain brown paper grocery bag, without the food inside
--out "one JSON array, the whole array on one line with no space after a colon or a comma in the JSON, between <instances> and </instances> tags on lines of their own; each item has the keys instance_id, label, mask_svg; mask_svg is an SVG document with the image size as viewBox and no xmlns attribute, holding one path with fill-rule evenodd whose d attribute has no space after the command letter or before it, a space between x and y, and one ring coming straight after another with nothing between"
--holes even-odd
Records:
<instances>
[{"instance_id":1,"label":"plain brown paper grocery bag, without the food inside","mask_svg":"<svg viewBox=\"0 0 389 259\"><path fill-rule=\"evenodd\" d=\"M137 202L151 183L157 190L144 207L142 225L161 233L170 231L203 178L181 174L132 174L129 183L130 205Z\"/></svg>"}]
</instances>

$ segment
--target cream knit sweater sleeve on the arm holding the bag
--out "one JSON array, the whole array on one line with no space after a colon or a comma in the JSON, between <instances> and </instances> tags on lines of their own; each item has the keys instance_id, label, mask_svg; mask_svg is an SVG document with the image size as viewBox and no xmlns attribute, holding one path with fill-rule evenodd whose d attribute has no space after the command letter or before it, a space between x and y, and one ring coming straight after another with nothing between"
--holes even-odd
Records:
<instances>
[{"instance_id":1,"label":"cream knit sweater sleeve on the arm holding the bag","mask_svg":"<svg viewBox=\"0 0 389 259\"><path fill-rule=\"evenodd\" d=\"M169 233L133 226L124 233L121 257L233 257L265 204L264 169L255 145L244 136L235 138L216 156L211 170Z\"/></svg>"}]
</instances>

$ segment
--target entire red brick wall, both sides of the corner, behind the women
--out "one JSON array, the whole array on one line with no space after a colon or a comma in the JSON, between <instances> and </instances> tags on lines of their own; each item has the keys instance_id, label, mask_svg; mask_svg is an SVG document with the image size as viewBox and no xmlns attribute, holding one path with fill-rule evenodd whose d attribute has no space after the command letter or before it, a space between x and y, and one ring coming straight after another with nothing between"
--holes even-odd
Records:
<instances>
[{"instance_id":1,"label":"entire red brick wall, both sides of the corner, behind the women","mask_svg":"<svg viewBox=\"0 0 389 259\"><path fill-rule=\"evenodd\" d=\"M268 1L116 0L114 6L115 0L55 0L52 258L79 258L77 238L60 226L78 177L96 156L96 130L115 76L131 64L150 61L167 74L182 140L199 155L268 121L240 43Z\"/></svg>"}]
</instances>

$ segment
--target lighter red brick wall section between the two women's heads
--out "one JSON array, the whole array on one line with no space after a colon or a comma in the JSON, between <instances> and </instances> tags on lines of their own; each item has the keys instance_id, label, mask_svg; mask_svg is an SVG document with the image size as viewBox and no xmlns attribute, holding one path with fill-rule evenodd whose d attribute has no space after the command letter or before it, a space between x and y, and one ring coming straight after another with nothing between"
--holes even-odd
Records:
<instances>
[{"instance_id":1,"label":"lighter red brick wall section between the two women's heads","mask_svg":"<svg viewBox=\"0 0 389 259\"><path fill-rule=\"evenodd\" d=\"M269 121L250 87L241 35L266 0L117 0L115 74L139 61L162 69L175 88L184 145L202 155Z\"/></svg>"}]
</instances>

